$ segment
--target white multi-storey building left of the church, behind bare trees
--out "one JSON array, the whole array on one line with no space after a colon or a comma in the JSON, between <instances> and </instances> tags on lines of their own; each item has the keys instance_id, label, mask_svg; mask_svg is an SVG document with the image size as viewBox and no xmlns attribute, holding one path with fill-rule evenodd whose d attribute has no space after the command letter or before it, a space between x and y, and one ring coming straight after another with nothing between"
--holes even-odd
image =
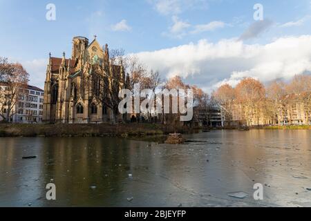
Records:
<instances>
[{"instance_id":1,"label":"white multi-storey building left of the church, behind bare trees","mask_svg":"<svg viewBox=\"0 0 311 221\"><path fill-rule=\"evenodd\" d=\"M5 84L1 85L5 93ZM19 95L15 106L10 113L10 122L13 124L36 124L42 122L44 104L44 90L28 85L27 88L19 89ZM3 114L7 109L3 108ZM0 116L0 121L3 120Z\"/></svg>"}]
</instances>

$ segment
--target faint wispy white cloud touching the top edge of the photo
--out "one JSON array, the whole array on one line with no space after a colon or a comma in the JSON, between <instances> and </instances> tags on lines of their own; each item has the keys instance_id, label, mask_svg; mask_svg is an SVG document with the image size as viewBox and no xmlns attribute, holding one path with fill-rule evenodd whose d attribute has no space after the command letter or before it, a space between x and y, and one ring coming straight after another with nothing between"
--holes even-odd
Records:
<instances>
[{"instance_id":1,"label":"faint wispy white cloud touching the top edge of the photo","mask_svg":"<svg viewBox=\"0 0 311 221\"><path fill-rule=\"evenodd\" d=\"M148 0L161 15L178 15L189 9L207 8L207 0Z\"/></svg>"}]
</instances>

